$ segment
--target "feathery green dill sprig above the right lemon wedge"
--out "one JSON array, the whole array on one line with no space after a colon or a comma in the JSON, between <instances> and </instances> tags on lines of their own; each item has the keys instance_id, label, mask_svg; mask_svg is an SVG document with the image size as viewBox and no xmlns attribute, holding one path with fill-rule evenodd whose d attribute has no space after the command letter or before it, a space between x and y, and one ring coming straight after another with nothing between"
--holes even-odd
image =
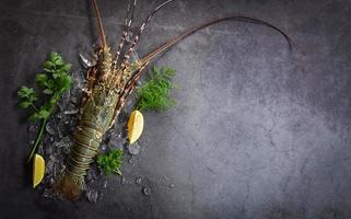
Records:
<instances>
[{"instance_id":1,"label":"feathery green dill sprig above the right lemon wedge","mask_svg":"<svg viewBox=\"0 0 351 219\"><path fill-rule=\"evenodd\" d=\"M139 111L164 111L175 104L171 96L171 89L175 88L172 82L175 70L171 68L153 67L149 72L149 79L138 90Z\"/></svg>"}]
</instances>

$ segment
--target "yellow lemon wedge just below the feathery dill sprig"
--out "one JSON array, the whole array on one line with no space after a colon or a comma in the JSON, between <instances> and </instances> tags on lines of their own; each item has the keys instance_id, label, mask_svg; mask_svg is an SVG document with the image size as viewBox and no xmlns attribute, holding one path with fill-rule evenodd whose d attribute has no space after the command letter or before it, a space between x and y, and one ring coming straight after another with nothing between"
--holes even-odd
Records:
<instances>
[{"instance_id":1,"label":"yellow lemon wedge just below the feathery dill sprig","mask_svg":"<svg viewBox=\"0 0 351 219\"><path fill-rule=\"evenodd\" d=\"M129 143L136 142L142 134L144 127L144 118L139 111L133 111L128 120L128 138Z\"/></svg>"}]
</instances>

